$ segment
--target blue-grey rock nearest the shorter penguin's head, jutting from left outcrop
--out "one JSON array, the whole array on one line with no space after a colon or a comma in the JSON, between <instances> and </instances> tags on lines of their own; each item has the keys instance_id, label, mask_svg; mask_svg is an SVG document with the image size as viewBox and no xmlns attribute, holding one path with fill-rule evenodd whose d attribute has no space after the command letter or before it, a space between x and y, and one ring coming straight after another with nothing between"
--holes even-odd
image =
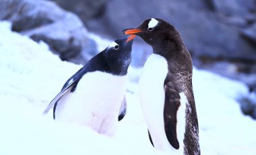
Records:
<instances>
[{"instance_id":1,"label":"blue-grey rock nearest the shorter penguin's head, jutting from left outcrop","mask_svg":"<svg viewBox=\"0 0 256 155\"><path fill-rule=\"evenodd\" d=\"M87 49L87 44L92 40L87 37L88 32L82 21L73 13L67 13L65 17L53 23L21 33L30 36L36 42L43 40L49 44L51 50L57 52L61 60L72 59L72 62L76 64L85 64L88 59L88 56L83 56L80 53ZM94 48L94 52L91 50L90 54L95 54L96 45L90 45ZM76 58L79 60L75 60Z\"/></svg>"}]
</instances>

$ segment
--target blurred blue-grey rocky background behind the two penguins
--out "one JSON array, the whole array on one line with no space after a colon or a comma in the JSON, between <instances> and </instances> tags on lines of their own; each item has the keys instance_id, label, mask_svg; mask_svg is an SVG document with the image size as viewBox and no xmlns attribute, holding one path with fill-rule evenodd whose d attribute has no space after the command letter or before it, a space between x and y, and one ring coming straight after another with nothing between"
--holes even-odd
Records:
<instances>
[{"instance_id":1,"label":"blurred blue-grey rocky background behind the two penguins","mask_svg":"<svg viewBox=\"0 0 256 155\"><path fill-rule=\"evenodd\" d=\"M76 64L98 52L88 31L115 40L124 37L123 29L151 17L163 18L181 32L197 68L243 81L255 96L256 0L0 1L0 19L11 21L13 31L46 42L62 60ZM133 66L142 66L151 48L136 40ZM241 107L256 119L253 99L246 97Z\"/></svg>"}]
</instances>

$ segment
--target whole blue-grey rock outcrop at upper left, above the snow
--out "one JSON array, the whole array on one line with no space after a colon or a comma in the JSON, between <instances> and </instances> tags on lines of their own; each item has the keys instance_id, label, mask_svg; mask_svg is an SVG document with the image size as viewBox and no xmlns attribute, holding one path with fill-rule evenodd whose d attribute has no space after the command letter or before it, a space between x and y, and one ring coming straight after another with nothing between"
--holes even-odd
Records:
<instances>
[{"instance_id":1,"label":"whole blue-grey rock outcrop at upper left, above the snow","mask_svg":"<svg viewBox=\"0 0 256 155\"><path fill-rule=\"evenodd\" d=\"M3 0L1 4L0 19L11 21L12 30L46 42L62 60L85 64L98 52L79 17L51 1Z\"/></svg>"}]
</instances>

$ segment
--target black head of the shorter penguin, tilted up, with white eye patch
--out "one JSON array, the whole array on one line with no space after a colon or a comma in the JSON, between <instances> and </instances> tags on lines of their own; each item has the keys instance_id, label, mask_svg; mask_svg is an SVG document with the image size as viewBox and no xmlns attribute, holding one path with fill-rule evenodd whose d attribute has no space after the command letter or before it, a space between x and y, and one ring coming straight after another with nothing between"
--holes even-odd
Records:
<instances>
[{"instance_id":1,"label":"black head of the shorter penguin, tilted up, with white eye patch","mask_svg":"<svg viewBox=\"0 0 256 155\"><path fill-rule=\"evenodd\" d=\"M132 44L133 40L119 39L102 51L109 72L120 75L127 74L127 69L131 63Z\"/></svg>"}]
</instances>

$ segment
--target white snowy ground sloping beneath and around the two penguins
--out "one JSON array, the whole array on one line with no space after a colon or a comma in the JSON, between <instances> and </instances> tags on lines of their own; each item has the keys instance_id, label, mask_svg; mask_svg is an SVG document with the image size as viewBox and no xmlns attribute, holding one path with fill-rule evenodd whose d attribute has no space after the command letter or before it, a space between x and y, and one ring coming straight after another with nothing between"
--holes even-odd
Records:
<instances>
[{"instance_id":1,"label":"white snowy ground sloping beneath and around the two penguins","mask_svg":"<svg viewBox=\"0 0 256 155\"><path fill-rule=\"evenodd\" d=\"M42 117L44 107L81 67L62 62L45 44L13 33L9 23L0 22L1 155L162 154L148 140L139 107L136 81L141 69L129 68L127 115L113 138L84 126L57 123L51 112ZM247 95L247 87L195 68L193 88L201 154L256 154L256 121L244 116L236 101Z\"/></svg>"}]
</instances>

